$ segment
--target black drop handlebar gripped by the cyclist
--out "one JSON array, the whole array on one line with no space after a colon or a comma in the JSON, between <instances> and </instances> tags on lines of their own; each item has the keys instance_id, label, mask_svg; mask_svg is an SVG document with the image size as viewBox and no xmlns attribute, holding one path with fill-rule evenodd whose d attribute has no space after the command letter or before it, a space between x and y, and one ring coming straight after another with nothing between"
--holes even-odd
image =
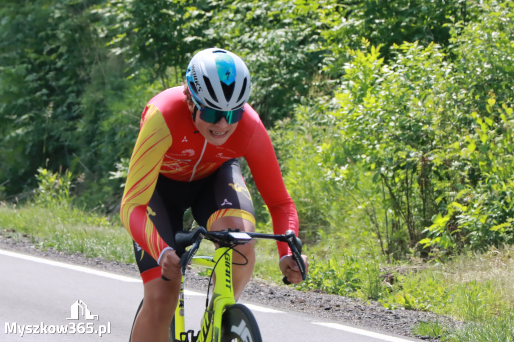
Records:
<instances>
[{"instance_id":1,"label":"black drop handlebar gripped by the cyclist","mask_svg":"<svg viewBox=\"0 0 514 342\"><path fill-rule=\"evenodd\" d=\"M252 239L270 239L279 242L286 242L292 253L293 260L296 261L302 279L305 280L305 263L302 258L302 241L296 237L295 232L288 230L285 234L263 234L263 233L252 233L252 232L241 232L240 230L226 230L217 232L208 232L204 227L196 227L190 232L178 232L175 235L176 242L176 253L180 257L180 271L182 275L186 273L187 265L191 262L191 259L198 251L200 242L203 239L207 239L214 243L217 243L222 247L230 247L237 244L245 244L250 242ZM191 248L186 251L186 248ZM161 276L164 280L169 280L164 276ZM282 281L289 285L291 282L284 276Z\"/></svg>"}]
</instances>

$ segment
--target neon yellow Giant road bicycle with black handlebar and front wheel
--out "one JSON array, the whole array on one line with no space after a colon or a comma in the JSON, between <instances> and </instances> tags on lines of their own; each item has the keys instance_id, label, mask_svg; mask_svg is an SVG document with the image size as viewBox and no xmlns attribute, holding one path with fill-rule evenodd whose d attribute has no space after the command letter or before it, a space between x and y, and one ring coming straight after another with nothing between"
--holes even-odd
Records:
<instances>
[{"instance_id":1,"label":"neon yellow Giant road bicycle with black handlebar and front wheel","mask_svg":"<svg viewBox=\"0 0 514 342\"><path fill-rule=\"evenodd\" d=\"M214 252L214 256L195 255L200 242L204 239L219 246ZM255 317L246 306L235 302L232 286L233 248L238 244L248 243L252 239L272 239L287 242L292 257L297 262L302 277L305 279L305 264L301 257L302 242L291 230L279 235L240 232L230 229L207 232L204 227L197 227L191 232L179 232L176 234L175 240L177 254L180 255L183 252L180 258L182 284L175 316L170 325L171 342L262 342L261 332ZM191 248L186 251L189 246ZM185 327L183 275L189 264L212 269L211 280L213 274L216 279L211 299L206 305L201 326L197 333L194 330L186 330ZM289 283L285 277L283 281ZM207 295L209 296L209 290ZM137 313L141 305L142 301Z\"/></svg>"}]
</instances>

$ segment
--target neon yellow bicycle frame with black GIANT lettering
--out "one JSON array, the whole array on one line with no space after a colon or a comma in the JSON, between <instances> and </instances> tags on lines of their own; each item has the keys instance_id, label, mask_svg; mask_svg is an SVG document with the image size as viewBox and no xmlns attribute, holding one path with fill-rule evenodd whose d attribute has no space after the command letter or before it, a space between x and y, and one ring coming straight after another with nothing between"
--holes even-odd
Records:
<instances>
[{"instance_id":1,"label":"neon yellow bicycle frame with black GIANT lettering","mask_svg":"<svg viewBox=\"0 0 514 342\"><path fill-rule=\"evenodd\" d=\"M200 330L196 336L196 342L219 342L221 339L222 315L224 309L235 304L234 289L232 284L232 252L228 247L220 247L214 252L214 258L195 256L191 263L213 269L216 282L209 305L201 320ZM175 310L175 339L185 341L187 338L183 276L180 286L180 295L177 309ZM190 341L192 342L192 341Z\"/></svg>"}]
</instances>

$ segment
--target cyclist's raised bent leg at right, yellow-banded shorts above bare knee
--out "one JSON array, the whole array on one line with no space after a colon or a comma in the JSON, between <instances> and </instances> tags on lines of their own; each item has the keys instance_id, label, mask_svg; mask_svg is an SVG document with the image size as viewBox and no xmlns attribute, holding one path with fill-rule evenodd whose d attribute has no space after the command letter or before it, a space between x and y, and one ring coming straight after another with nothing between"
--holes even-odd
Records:
<instances>
[{"instance_id":1,"label":"cyclist's raised bent leg at right, yellow-banded shorts above bare knee","mask_svg":"<svg viewBox=\"0 0 514 342\"><path fill-rule=\"evenodd\" d=\"M228 228L255 231L252 200L236 159L229 160L218 168L198 201L193 204L192 210L198 224L210 231ZM237 300L253 272L254 242L239 245L235 250L241 253L233 253L234 296Z\"/></svg>"}]
</instances>

